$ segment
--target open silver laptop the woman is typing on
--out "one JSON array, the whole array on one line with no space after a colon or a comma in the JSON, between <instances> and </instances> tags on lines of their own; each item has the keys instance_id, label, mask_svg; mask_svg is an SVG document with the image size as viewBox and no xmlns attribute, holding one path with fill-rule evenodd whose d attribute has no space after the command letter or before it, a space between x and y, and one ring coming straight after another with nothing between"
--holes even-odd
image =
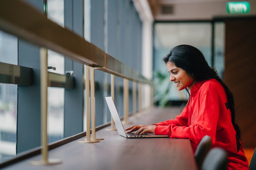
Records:
<instances>
[{"instance_id":1,"label":"open silver laptop the woman is typing on","mask_svg":"<svg viewBox=\"0 0 256 170\"><path fill-rule=\"evenodd\" d=\"M169 137L168 135L156 135L154 133L151 134L142 134L142 135L135 135L134 133L125 133L123 124L121 122L121 119L119 117L119 114L116 110L115 103L113 102L112 97L105 97L110 113L113 117L113 120L115 122L116 129L119 133L119 135L125 137L125 138L163 138L163 137Z\"/></svg>"}]
</instances>

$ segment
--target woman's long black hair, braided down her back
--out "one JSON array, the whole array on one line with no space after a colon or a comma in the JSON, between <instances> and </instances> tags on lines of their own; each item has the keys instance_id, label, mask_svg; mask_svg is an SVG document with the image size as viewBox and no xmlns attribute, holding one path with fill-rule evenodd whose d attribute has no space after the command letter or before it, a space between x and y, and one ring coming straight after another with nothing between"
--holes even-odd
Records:
<instances>
[{"instance_id":1,"label":"woman's long black hair, braided down her back","mask_svg":"<svg viewBox=\"0 0 256 170\"><path fill-rule=\"evenodd\" d=\"M188 76L193 77L194 82L216 79L223 86L227 99L228 107L231 112L231 122L238 137L240 138L240 129L235 122L235 108L234 108L234 97L229 88L217 74L215 69L210 68L204 55L199 49L191 45L179 45L173 47L165 57L163 57L165 63L172 62L176 67L179 67L186 71ZM189 94L188 88L186 91ZM190 94L189 94L190 97ZM189 102L188 102L189 103ZM188 105L188 104L187 104ZM187 107L187 106L186 106Z\"/></svg>"}]
</instances>

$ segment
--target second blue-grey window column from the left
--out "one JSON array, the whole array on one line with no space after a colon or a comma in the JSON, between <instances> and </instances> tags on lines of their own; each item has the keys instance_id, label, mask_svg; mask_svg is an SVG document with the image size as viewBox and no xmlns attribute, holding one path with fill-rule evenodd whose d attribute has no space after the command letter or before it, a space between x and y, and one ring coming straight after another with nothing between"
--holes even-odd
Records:
<instances>
[{"instance_id":1,"label":"second blue-grey window column from the left","mask_svg":"<svg viewBox=\"0 0 256 170\"><path fill-rule=\"evenodd\" d=\"M83 37L83 1L64 1L64 25ZM71 16L71 17L70 17ZM65 58L65 71L74 71L74 89L65 89L64 138L83 131L83 64Z\"/></svg>"}]
</instances>

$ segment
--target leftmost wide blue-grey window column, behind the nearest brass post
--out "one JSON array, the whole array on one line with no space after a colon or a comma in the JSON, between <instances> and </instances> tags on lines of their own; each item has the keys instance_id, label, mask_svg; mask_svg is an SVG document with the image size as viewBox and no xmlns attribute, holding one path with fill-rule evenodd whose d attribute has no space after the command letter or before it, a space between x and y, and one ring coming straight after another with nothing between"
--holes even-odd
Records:
<instances>
[{"instance_id":1,"label":"leftmost wide blue-grey window column, behind the nearest brass post","mask_svg":"<svg viewBox=\"0 0 256 170\"><path fill-rule=\"evenodd\" d=\"M27 0L43 14L43 0ZM18 38L18 65L32 68L32 86L18 86L17 153L41 145L40 48Z\"/></svg>"}]
</instances>

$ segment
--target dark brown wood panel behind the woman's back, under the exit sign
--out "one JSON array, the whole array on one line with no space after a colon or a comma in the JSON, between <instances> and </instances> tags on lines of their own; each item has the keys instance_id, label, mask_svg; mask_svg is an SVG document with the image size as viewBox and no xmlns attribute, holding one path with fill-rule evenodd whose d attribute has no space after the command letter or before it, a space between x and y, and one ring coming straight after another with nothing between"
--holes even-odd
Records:
<instances>
[{"instance_id":1,"label":"dark brown wood panel behind the woman's back, under the exit sign","mask_svg":"<svg viewBox=\"0 0 256 170\"><path fill-rule=\"evenodd\" d=\"M234 95L236 122L243 147L256 146L256 18L229 19L226 23L225 83Z\"/></svg>"}]
</instances>

